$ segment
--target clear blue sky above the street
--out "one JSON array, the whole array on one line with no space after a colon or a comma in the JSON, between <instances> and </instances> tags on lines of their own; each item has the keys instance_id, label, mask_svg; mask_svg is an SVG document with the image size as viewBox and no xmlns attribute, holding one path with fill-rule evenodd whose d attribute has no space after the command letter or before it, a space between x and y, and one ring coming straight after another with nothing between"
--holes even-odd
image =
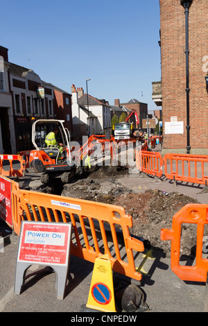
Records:
<instances>
[{"instance_id":1,"label":"clear blue sky above the street","mask_svg":"<svg viewBox=\"0 0 208 326\"><path fill-rule=\"evenodd\" d=\"M8 60L71 94L83 87L110 105L148 103L161 80L159 0L1 1Z\"/></svg>"}]
</instances>

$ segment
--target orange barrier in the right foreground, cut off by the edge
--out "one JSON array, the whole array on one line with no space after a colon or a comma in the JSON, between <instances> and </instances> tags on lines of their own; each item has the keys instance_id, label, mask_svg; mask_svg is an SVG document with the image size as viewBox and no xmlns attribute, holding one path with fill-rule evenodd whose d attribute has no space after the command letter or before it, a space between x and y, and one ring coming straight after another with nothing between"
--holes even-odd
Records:
<instances>
[{"instance_id":1,"label":"orange barrier in the right foreground, cut off by the edge","mask_svg":"<svg viewBox=\"0 0 208 326\"><path fill-rule=\"evenodd\" d=\"M196 263L194 266L180 265L180 237L182 223L197 226ZM206 282L208 259L202 257L205 225L208 224L208 205L189 204L173 216L172 229L162 229L161 239L171 240L171 269L184 281ZM190 248L191 249L191 248Z\"/></svg>"}]
</instances>

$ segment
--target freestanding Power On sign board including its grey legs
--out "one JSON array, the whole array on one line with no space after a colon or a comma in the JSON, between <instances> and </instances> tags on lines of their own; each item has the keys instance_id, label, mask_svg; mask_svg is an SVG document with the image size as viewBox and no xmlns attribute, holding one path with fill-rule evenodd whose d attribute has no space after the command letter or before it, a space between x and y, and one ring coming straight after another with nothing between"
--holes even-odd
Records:
<instances>
[{"instance_id":1,"label":"freestanding Power On sign board including its grey legs","mask_svg":"<svg viewBox=\"0 0 208 326\"><path fill-rule=\"evenodd\" d=\"M64 298L71 244L71 223L21 221L15 272L15 294L21 293L28 266L51 266L57 273L57 298Z\"/></svg>"}]
</instances>

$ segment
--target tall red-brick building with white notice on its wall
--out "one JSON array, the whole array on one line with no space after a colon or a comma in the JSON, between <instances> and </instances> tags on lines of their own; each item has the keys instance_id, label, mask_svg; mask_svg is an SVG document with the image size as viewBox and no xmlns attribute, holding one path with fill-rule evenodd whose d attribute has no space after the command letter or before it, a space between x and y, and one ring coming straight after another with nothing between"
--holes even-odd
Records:
<instances>
[{"instance_id":1,"label":"tall red-brick building with white notice on its wall","mask_svg":"<svg viewBox=\"0 0 208 326\"><path fill-rule=\"evenodd\" d=\"M162 154L208 154L208 96L205 83L208 71L208 1L160 0L159 3L164 137ZM188 15L184 13L186 3L189 4ZM189 52L186 51L186 35L189 35Z\"/></svg>"}]
</instances>

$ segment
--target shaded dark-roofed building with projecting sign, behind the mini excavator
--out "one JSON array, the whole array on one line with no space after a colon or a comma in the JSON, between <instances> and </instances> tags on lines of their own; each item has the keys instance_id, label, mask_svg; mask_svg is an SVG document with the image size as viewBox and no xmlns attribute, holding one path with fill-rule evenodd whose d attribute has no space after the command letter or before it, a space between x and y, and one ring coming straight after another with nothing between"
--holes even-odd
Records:
<instances>
[{"instance_id":1,"label":"shaded dark-roofed building with projecting sign, behind the mini excavator","mask_svg":"<svg viewBox=\"0 0 208 326\"><path fill-rule=\"evenodd\" d=\"M12 94L15 122L15 149L13 154L33 148L33 119L53 117L53 87L40 79L31 69L9 62L10 93ZM44 89L44 97L38 96L38 88ZM54 118L53 118L54 119ZM11 132L11 131L10 131Z\"/></svg>"}]
</instances>

